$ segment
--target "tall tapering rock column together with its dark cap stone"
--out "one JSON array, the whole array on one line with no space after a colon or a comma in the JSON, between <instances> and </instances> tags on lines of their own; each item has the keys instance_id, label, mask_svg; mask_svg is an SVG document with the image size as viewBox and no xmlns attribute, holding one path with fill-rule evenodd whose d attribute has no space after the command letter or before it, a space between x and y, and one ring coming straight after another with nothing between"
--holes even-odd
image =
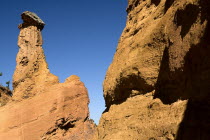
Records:
<instances>
[{"instance_id":1,"label":"tall tapering rock column together with its dark cap stone","mask_svg":"<svg viewBox=\"0 0 210 140\"><path fill-rule=\"evenodd\" d=\"M18 26L19 52L16 70L13 75L14 99L32 97L46 85L58 83L51 74L42 49L42 34L45 23L29 11L22 13L23 23ZM38 92L39 91L39 92Z\"/></svg>"}]
</instances>

